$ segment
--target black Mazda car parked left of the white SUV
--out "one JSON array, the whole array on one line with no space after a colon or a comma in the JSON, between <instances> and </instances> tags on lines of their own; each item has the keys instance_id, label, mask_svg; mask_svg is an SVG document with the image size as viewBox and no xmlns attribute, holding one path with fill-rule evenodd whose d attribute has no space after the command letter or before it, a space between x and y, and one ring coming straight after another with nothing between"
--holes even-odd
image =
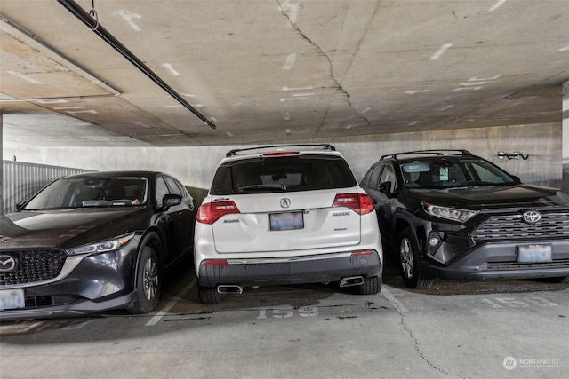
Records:
<instances>
[{"instance_id":1,"label":"black Mazda car parked left of the white SUV","mask_svg":"<svg viewBox=\"0 0 569 379\"><path fill-rule=\"evenodd\" d=\"M2 216L0 320L150 312L190 256L194 199L161 172L60 178Z\"/></svg>"}]
</instances>

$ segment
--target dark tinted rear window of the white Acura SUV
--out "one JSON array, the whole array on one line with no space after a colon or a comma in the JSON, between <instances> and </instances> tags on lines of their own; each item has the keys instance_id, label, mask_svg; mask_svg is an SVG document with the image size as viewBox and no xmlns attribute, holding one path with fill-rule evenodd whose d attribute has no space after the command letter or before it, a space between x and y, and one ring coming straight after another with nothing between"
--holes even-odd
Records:
<instances>
[{"instance_id":1,"label":"dark tinted rear window of the white Acura SUV","mask_svg":"<svg viewBox=\"0 0 569 379\"><path fill-rule=\"evenodd\" d=\"M259 157L222 164L211 193L228 195L312 191L357 186L348 163L335 155Z\"/></svg>"}]
</instances>

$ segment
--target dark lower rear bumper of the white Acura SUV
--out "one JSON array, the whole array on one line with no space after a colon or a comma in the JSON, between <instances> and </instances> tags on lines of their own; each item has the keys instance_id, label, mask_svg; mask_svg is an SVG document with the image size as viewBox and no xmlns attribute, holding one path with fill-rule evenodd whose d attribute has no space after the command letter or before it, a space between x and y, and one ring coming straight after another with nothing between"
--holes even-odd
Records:
<instances>
[{"instance_id":1,"label":"dark lower rear bumper of the white Acura SUV","mask_svg":"<svg viewBox=\"0 0 569 379\"><path fill-rule=\"evenodd\" d=\"M380 254L352 255L352 251L303 257L204 260L197 282L204 287L220 284L278 285L337 281L350 276L381 275Z\"/></svg>"}]
</instances>

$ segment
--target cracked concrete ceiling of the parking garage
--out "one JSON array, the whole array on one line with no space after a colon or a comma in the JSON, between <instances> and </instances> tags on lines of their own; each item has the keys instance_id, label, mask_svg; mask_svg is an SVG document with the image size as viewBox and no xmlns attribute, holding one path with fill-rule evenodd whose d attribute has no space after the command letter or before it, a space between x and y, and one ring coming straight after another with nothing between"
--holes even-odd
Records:
<instances>
[{"instance_id":1,"label":"cracked concrete ceiling of the parking garage","mask_svg":"<svg viewBox=\"0 0 569 379\"><path fill-rule=\"evenodd\" d=\"M91 11L175 95L61 3ZM569 81L567 0L2 0L0 14L4 143L236 145L560 122Z\"/></svg>"}]
</instances>

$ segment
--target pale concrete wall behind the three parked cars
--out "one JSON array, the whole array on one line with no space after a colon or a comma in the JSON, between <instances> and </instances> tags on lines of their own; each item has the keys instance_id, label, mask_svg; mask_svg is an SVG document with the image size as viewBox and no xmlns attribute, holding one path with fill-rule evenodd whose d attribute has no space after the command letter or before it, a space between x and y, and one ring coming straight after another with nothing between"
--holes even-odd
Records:
<instances>
[{"instance_id":1,"label":"pale concrete wall behind the three parked cars","mask_svg":"<svg viewBox=\"0 0 569 379\"><path fill-rule=\"evenodd\" d=\"M345 137L303 142L329 142L344 154L357 179L382 154L419 149L467 149L488 159L525 183L562 185L562 124L518 125L484 129L398 133L388 136ZM291 141L283 141L291 143ZM84 170L163 170L180 178L197 198L210 186L225 153L240 146L199 147L6 147L4 159ZM529 155L527 160L499 159L498 152Z\"/></svg>"}]
</instances>

